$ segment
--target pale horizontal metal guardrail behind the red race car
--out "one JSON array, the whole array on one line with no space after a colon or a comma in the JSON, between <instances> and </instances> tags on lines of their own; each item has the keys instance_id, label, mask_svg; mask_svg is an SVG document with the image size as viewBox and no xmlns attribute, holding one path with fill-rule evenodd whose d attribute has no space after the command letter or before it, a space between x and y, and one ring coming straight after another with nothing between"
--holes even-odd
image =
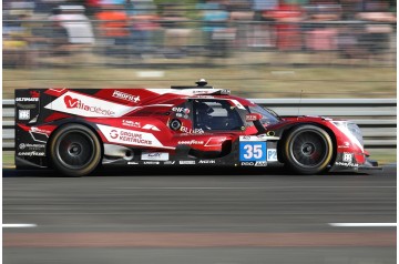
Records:
<instances>
[{"instance_id":1,"label":"pale horizontal metal guardrail behind the red race car","mask_svg":"<svg viewBox=\"0 0 399 264\"><path fill-rule=\"evenodd\" d=\"M397 148L396 99L252 99L280 115L323 115L356 122L365 138L365 146ZM14 149L14 101L2 101L2 149Z\"/></svg>"}]
</instances>

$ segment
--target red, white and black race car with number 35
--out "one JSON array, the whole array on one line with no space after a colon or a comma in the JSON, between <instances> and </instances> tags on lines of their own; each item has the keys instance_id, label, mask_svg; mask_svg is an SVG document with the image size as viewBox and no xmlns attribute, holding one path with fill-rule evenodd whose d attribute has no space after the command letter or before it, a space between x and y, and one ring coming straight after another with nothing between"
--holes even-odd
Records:
<instances>
[{"instance_id":1,"label":"red, white and black race car with number 35","mask_svg":"<svg viewBox=\"0 0 399 264\"><path fill-rule=\"evenodd\" d=\"M17 169L82 176L99 166L376 167L352 122L278 116L205 80L171 89L16 91Z\"/></svg>"}]
</instances>

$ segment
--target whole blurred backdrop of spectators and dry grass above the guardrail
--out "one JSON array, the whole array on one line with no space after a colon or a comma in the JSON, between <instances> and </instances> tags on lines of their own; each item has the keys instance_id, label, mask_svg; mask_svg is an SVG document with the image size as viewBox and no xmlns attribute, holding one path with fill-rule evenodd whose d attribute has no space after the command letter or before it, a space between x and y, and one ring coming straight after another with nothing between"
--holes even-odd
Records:
<instances>
[{"instance_id":1,"label":"whole blurred backdrop of spectators and dry grass above the guardrail","mask_svg":"<svg viewBox=\"0 0 399 264\"><path fill-rule=\"evenodd\" d=\"M395 0L2 2L17 88L167 88L247 98L396 98Z\"/></svg>"}]
</instances>

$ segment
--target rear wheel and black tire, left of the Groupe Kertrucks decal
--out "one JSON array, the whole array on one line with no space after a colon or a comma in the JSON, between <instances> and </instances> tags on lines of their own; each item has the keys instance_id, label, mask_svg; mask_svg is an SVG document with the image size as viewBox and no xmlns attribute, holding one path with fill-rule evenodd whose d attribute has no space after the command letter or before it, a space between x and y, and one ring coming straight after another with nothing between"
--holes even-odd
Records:
<instances>
[{"instance_id":1,"label":"rear wheel and black tire, left of the Groupe Kertrucks decal","mask_svg":"<svg viewBox=\"0 0 399 264\"><path fill-rule=\"evenodd\" d=\"M96 134L82 124L66 124L50 139L51 163L68 176L83 176L100 164L102 152Z\"/></svg>"}]
</instances>

